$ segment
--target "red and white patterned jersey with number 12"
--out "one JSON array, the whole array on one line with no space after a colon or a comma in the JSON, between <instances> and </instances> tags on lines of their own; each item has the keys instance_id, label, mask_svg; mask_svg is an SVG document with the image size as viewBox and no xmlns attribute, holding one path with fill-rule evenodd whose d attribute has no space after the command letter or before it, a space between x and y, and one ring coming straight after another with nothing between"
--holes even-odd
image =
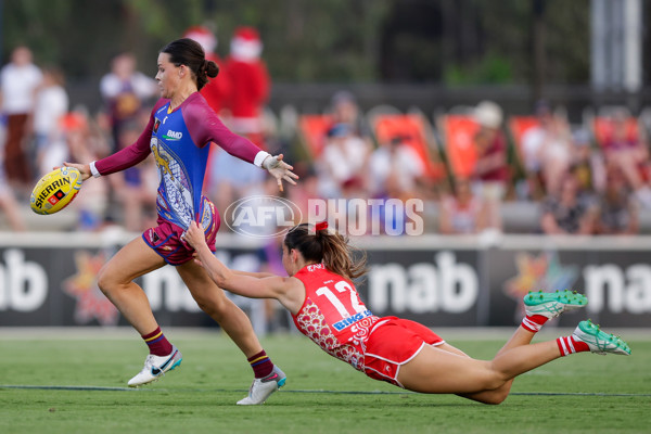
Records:
<instances>
[{"instance_id":1,"label":"red and white patterned jersey with number 12","mask_svg":"<svg viewBox=\"0 0 651 434\"><path fill-rule=\"evenodd\" d=\"M292 315L296 328L326 353L363 371L366 342L380 318L361 303L353 282L323 264L305 266L294 277L305 285L305 302Z\"/></svg>"}]
</instances>

